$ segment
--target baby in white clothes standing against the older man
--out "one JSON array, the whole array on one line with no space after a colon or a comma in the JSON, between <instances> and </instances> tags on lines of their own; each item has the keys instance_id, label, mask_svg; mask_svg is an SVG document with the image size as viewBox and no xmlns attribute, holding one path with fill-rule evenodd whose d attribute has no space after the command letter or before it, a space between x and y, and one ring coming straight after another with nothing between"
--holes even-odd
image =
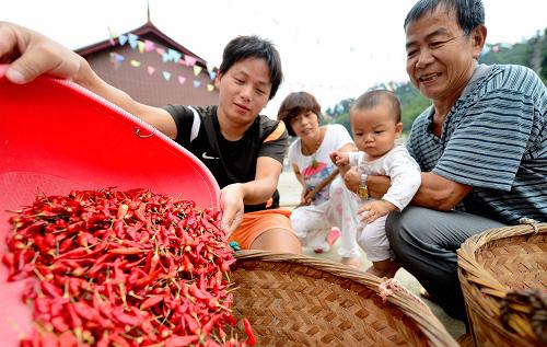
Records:
<instances>
[{"instance_id":1,"label":"baby in white clothes standing against the older man","mask_svg":"<svg viewBox=\"0 0 547 347\"><path fill-rule=\"evenodd\" d=\"M420 167L396 139L403 132L397 96L385 90L366 92L350 109L353 140L359 152L330 153L330 159L345 174L358 166L361 177L358 189L359 216L362 223L357 242L372 266L366 270L379 277L393 277L398 269L385 233L385 220L394 210L403 210L421 184ZM369 197L368 175L389 176L391 185L381 199Z\"/></svg>"}]
</instances>

